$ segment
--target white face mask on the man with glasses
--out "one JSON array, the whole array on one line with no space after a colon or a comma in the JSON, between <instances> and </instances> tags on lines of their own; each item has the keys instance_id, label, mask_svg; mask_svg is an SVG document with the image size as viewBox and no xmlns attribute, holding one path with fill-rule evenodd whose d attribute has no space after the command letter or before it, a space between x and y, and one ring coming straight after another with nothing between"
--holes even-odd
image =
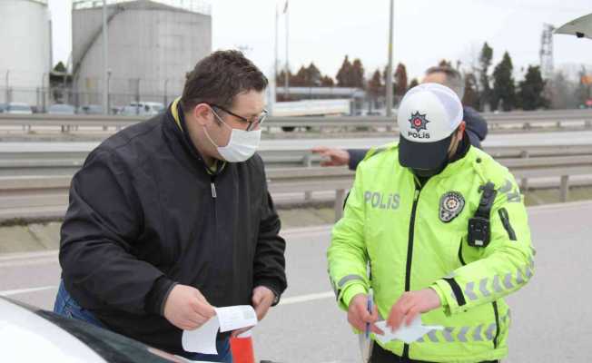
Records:
<instances>
[{"instance_id":1,"label":"white face mask on the man with glasses","mask_svg":"<svg viewBox=\"0 0 592 363\"><path fill-rule=\"evenodd\" d=\"M261 130L256 131L244 131L239 129L233 129L227 123L224 123L222 118L216 113L212 112L214 116L220 120L224 126L232 130L231 140L226 146L218 146L216 142L213 142L208 131L203 128L205 135L208 137L212 145L216 147L222 158L227 162L244 162L252 157L257 151L259 143L261 142Z\"/></svg>"}]
</instances>

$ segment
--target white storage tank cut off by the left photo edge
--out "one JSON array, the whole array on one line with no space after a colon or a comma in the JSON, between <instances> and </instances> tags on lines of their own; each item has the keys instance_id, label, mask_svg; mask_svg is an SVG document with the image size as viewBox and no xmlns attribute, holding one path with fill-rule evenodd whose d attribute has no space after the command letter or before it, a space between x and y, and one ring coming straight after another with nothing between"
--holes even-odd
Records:
<instances>
[{"instance_id":1,"label":"white storage tank cut off by the left photo edge","mask_svg":"<svg viewBox=\"0 0 592 363\"><path fill-rule=\"evenodd\" d=\"M51 70L46 0L0 0L0 103L42 108Z\"/></svg>"}]
</instances>

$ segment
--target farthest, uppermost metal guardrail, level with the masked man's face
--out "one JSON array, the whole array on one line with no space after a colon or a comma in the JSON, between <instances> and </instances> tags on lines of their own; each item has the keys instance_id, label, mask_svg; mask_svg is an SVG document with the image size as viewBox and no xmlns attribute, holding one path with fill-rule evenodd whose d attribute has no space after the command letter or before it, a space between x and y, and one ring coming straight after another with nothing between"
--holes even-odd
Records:
<instances>
[{"instance_id":1,"label":"farthest, uppermost metal guardrail, level with the masked man's face","mask_svg":"<svg viewBox=\"0 0 592 363\"><path fill-rule=\"evenodd\" d=\"M582 122L586 127L592 127L592 110L555 110L509 113L482 113L492 130L501 126L519 125L522 129L530 129L537 124ZM60 114L0 114L0 126L22 126L25 131L38 126L61 127L63 132L69 132L73 127L114 127L120 129L145 121L142 116L105 116L105 115L60 115ZM340 116L340 117L270 117L265 127L321 127L321 128L350 128L350 127L395 127L394 118L372 116Z\"/></svg>"}]
</instances>

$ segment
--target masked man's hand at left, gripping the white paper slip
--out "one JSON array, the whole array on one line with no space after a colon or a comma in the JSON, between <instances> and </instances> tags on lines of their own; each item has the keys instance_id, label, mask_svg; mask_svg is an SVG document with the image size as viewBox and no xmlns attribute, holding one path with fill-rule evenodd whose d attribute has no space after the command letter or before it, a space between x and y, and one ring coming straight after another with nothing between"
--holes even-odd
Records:
<instances>
[{"instance_id":1,"label":"masked man's hand at left, gripping the white paper slip","mask_svg":"<svg viewBox=\"0 0 592 363\"><path fill-rule=\"evenodd\" d=\"M183 330L200 328L216 312L200 290L186 285L175 285L164 303L164 318Z\"/></svg>"}]
</instances>

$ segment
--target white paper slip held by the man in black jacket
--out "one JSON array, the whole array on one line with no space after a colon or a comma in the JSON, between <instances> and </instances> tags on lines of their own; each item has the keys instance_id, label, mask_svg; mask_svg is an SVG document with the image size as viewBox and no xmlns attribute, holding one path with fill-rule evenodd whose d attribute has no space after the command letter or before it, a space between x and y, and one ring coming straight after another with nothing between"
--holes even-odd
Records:
<instances>
[{"instance_id":1,"label":"white paper slip held by the man in black jacket","mask_svg":"<svg viewBox=\"0 0 592 363\"><path fill-rule=\"evenodd\" d=\"M225 308L214 308L216 315L199 329L184 330L182 345L189 352L202 354L218 354L216 335L218 329L226 332L257 325L257 314L252 306L237 305Z\"/></svg>"}]
</instances>

